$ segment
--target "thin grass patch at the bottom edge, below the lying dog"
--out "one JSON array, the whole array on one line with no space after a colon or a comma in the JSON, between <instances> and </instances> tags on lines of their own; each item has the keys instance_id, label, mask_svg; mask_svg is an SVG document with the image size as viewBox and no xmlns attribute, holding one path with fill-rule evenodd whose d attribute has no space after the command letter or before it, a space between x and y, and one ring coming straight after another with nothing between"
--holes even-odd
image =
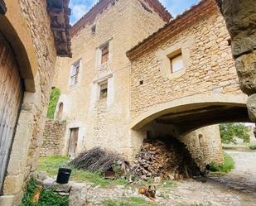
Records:
<instances>
[{"instance_id":1,"label":"thin grass patch at the bottom edge, below the lying dog","mask_svg":"<svg viewBox=\"0 0 256 206\"><path fill-rule=\"evenodd\" d=\"M129 199L106 199L101 206L157 206L159 204L154 204L152 202L147 202L147 200L131 197Z\"/></svg>"}]
</instances>

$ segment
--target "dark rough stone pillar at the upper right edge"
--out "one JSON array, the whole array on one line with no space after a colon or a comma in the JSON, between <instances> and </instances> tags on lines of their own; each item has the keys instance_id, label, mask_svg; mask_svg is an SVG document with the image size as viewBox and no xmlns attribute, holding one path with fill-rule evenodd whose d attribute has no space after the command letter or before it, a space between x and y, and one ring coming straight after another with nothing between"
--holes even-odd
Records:
<instances>
[{"instance_id":1,"label":"dark rough stone pillar at the upper right edge","mask_svg":"<svg viewBox=\"0 0 256 206\"><path fill-rule=\"evenodd\" d=\"M256 122L256 1L216 0L225 17L242 91L249 95L249 117Z\"/></svg>"}]
</instances>

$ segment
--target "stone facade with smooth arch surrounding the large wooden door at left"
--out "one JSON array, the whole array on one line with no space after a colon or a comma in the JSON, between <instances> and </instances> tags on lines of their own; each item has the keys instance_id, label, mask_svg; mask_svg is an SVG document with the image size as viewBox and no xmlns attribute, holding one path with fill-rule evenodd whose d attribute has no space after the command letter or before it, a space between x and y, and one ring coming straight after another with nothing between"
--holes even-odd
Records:
<instances>
[{"instance_id":1,"label":"stone facade with smooth arch surrounding the large wooden door at left","mask_svg":"<svg viewBox=\"0 0 256 206\"><path fill-rule=\"evenodd\" d=\"M0 205L11 206L19 204L22 187L36 170L57 52L46 1L5 2L7 12L0 16L0 31L14 50L25 84L0 196Z\"/></svg>"}]
</instances>

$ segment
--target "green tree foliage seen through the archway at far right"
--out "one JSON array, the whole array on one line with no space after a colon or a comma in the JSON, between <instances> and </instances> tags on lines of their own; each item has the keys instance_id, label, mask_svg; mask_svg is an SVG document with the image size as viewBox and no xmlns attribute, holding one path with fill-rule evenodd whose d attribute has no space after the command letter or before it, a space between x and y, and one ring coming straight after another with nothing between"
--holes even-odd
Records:
<instances>
[{"instance_id":1,"label":"green tree foliage seen through the archway at far right","mask_svg":"<svg viewBox=\"0 0 256 206\"><path fill-rule=\"evenodd\" d=\"M237 138L244 141L244 143L249 142L249 132L250 127L246 127L241 123L223 123L220 124L220 137L222 143L225 144L237 144Z\"/></svg>"}]
</instances>

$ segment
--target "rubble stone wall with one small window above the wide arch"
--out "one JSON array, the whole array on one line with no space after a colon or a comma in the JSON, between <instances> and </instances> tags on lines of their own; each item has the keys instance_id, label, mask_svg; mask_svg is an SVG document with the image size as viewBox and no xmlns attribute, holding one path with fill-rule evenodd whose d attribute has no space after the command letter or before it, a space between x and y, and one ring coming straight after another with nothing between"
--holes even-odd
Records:
<instances>
[{"instance_id":1,"label":"rubble stone wall with one small window above the wide arch","mask_svg":"<svg viewBox=\"0 0 256 206\"><path fill-rule=\"evenodd\" d=\"M132 60L133 118L158 103L198 93L243 95L239 89L225 21L217 7L208 9L206 17L200 17L195 24ZM162 38L166 34L162 34ZM144 44L147 46L147 42ZM167 55L178 49L182 50L185 69L171 74Z\"/></svg>"}]
</instances>

